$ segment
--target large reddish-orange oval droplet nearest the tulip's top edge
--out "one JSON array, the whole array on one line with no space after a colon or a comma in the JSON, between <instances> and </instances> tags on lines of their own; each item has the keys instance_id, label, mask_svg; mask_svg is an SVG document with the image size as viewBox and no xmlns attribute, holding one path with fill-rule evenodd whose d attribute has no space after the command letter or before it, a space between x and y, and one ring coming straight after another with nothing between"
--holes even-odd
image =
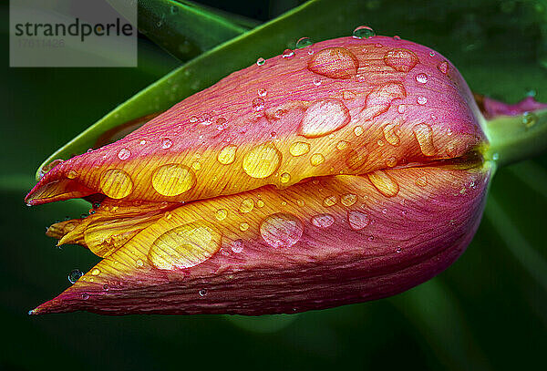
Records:
<instances>
[{"instance_id":1,"label":"large reddish-orange oval droplet nearest the tulip's top edge","mask_svg":"<svg viewBox=\"0 0 547 371\"><path fill-rule=\"evenodd\" d=\"M308 69L330 78L351 78L359 68L357 57L345 47L326 47L310 59Z\"/></svg>"}]
</instances>

